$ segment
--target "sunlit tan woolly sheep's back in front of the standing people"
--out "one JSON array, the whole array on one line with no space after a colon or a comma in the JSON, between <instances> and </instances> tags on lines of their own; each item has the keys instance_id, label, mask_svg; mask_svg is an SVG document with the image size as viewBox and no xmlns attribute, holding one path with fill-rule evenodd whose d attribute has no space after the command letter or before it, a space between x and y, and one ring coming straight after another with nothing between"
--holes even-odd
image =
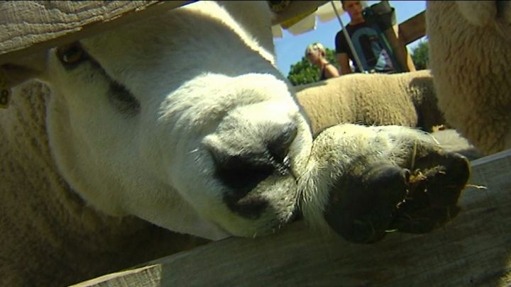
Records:
<instances>
[{"instance_id":1,"label":"sunlit tan woolly sheep's back in front of the standing people","mask_svg":"<svg viewBox=\"0 0 511 287\"><path fill-rule=\"evenodd\" d=\"M404 125L427 131L445 124L436 108L429 70L348 74L295 89L314 134L338 123Z\"/></svg>"}]
</instances>

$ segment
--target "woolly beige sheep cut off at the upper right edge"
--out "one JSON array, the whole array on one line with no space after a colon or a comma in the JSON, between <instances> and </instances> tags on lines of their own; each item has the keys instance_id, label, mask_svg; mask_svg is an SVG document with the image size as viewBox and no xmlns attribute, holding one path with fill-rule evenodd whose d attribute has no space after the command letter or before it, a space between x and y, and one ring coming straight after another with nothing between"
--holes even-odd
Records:
<instances>
[{"instance_id":1,"label":"woolly beige sheep cut off at the upper right edge","mask_svg":"<svg viewBox=\"0 0 511 287\"><path fill-rule=\"evenodd\" d=\"M427 1L429 67L446 120L484 154L511 147L511 5Z\"/></svg>"}]
</instances>

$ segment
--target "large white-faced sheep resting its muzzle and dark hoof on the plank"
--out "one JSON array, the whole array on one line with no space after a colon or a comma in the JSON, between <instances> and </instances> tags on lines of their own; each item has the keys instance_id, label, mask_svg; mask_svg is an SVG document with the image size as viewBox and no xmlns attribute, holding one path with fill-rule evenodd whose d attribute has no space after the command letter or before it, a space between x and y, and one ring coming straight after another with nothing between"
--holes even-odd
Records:
<instances>
[{"instance_id":1,"label":"large white-faced sheep resting its muzzle and dark hoof on the plank","mask_svg":"<svg viewBox=\"0 0 511 287\"><path fill-rule=\"evenodd\" d=\"M429 174L455 178L442 210L454 208L466 159L404 127L339 125L313 145L275 67L270 18L264 1L199 1L2 65L13 96L0 111L0 285L77 283L209 240L269 235L302 210L353 242L444 224L414 230L397 206L417 211L404 203L410 176L442 166ZM331 198L344 196L359 209L339 213ZM378 234L365 228L374 208Z\"/></svg>"}]
</instances>

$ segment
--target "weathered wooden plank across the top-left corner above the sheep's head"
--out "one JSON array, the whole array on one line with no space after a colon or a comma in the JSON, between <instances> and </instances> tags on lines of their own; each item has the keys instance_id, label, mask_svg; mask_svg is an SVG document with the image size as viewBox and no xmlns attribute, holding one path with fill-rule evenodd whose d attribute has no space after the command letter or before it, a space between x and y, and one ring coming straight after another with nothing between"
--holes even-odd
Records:
<instances>
[{"instance_id":1,"label":"weathered wooden plank across the top-left corner above the sheep's head","mask_svg":"<svg viewBox=\"0 0 511 287\"><path fill-rule=\"evenodd\" d=\"M0 64L193 1L0 1Z\"/></svg>"}]
</instances>

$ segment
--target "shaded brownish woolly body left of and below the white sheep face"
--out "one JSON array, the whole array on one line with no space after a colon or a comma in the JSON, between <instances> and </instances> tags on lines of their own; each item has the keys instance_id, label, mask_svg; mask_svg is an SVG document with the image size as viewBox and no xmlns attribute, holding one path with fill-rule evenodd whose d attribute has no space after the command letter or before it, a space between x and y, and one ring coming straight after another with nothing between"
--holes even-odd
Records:
<instances>
[{"instance_id":1,"label":"shaded brownish woolly body left of and below the white sheep face","mask_svg":"<svg viewBox=\"0 0 511 287\"><path fill-rule=\"evenodd\" d=\"M85 203L55 166L48 96L29 81L0 110L1 286L67 286L209 242Z\"/></svg>"}]
</instances>

